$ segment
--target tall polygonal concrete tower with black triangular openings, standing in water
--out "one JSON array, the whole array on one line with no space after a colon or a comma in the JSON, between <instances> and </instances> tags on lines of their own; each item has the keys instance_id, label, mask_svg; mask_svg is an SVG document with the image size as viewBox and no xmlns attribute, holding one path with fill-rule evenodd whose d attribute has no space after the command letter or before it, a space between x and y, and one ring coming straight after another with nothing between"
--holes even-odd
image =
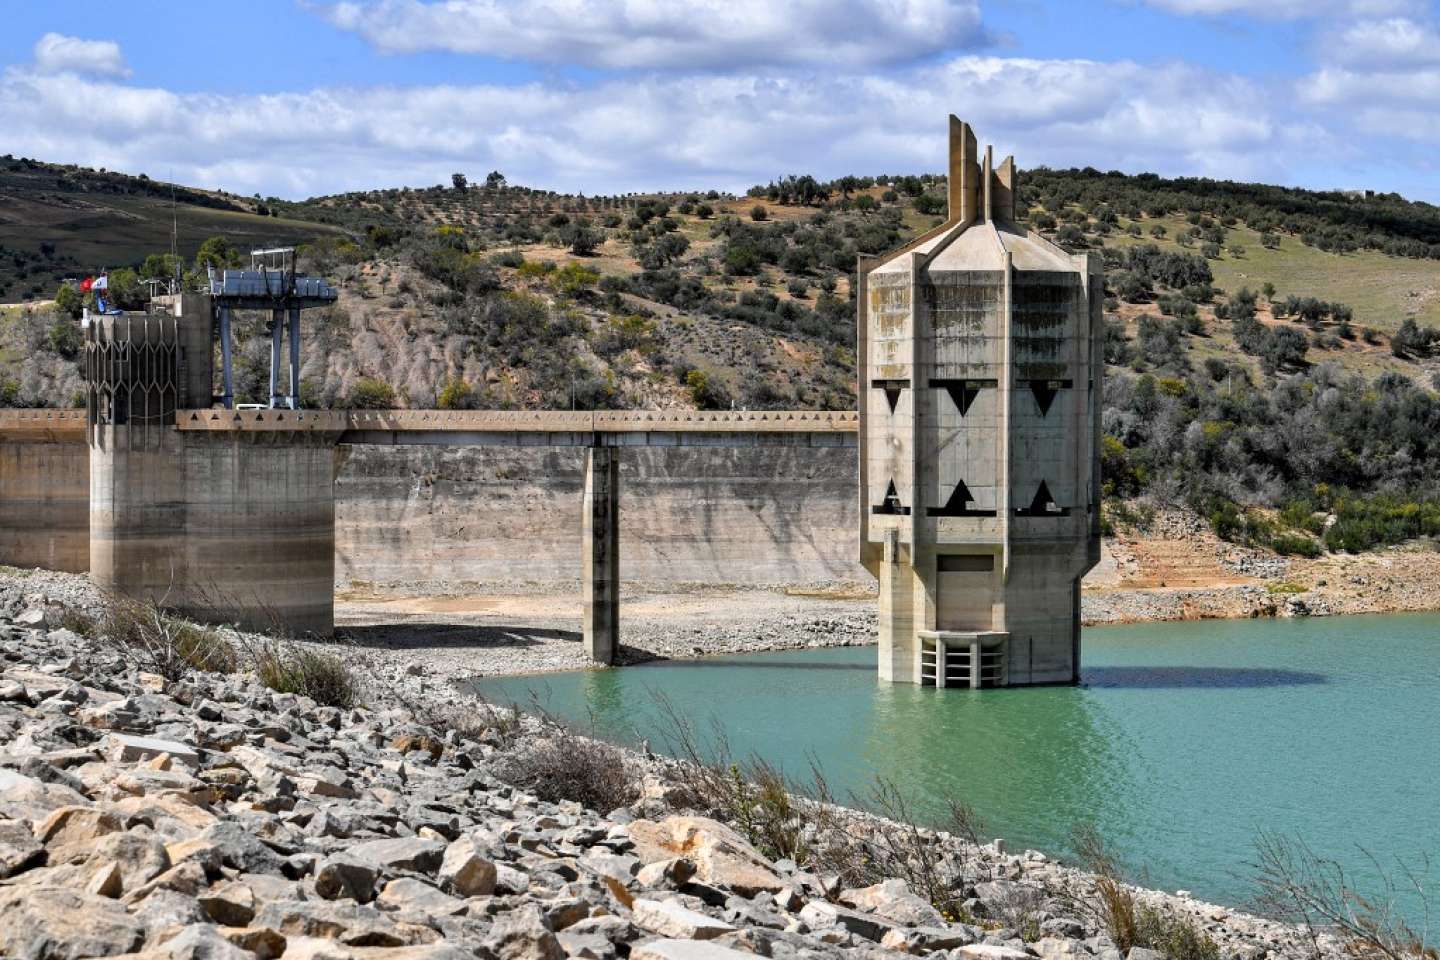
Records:
<instances>
[{"instance_id":1,"label":"tall polygonal concrete tower with black triangular openings, standing in water","mask_svg":"<svg viewBox=\"0 0 1440 960\"><path fill-rule=\"evenodd\" d=\"M1103 266L1015 226L1015 161L950 117L949 216L858 289L860 554L880 676L1070 684L1100 558Z\"/></svg>"}]
</instances>

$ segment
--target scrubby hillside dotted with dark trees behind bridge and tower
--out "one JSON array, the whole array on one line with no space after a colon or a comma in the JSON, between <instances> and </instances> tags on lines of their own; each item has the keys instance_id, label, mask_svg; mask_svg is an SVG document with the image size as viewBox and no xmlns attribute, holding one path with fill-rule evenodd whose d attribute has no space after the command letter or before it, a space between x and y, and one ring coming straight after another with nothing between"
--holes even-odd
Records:
<instances>
[{"instance_id":1,"label":"scrubby hillside dotted with dark trees behind bridge and tower","mask_svg":"<svg viewBox=\"0 0 1440 960\"><path fill-rule=\"evenodd\" d=\"M168 189L125 190L151 219L168 213ZM341 298L310 334L310 406L845 409L855 258L939 223L943 196L943 177L887 176L583 197L497 173L298 203L184 200L197 217L315 237L302 266ZM1139 498L1287 553L1440 534L1427 479L1440 469L1440 210L1044 168L1021 176L1020 200L1030 227L1106 263L1113 522L1143 525L1123 507ZM151 227L168 237L167 220ZM210 262L239 261L246 235L226 236ZM122 242L102 259L141 252ZM53 256L79 259L63 242ZM266 373L261 322L239 327L242 399ZM53 311L0 317L0 402L69 402L72 331Z\"/></svg>"}]
</instances>

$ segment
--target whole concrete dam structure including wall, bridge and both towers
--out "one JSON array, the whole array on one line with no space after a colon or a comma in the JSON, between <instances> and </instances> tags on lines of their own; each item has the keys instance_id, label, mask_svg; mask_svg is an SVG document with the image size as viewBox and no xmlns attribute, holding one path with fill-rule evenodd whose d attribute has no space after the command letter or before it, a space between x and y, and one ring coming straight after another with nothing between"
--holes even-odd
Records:
<instances>
[{"instance_id":1,"label":"whole concrete dam structure including wall, bridge and both towers","mask_svg":"<svg viewBox=\"0 0 1440 960\"><path fill-rule=\"evenodd\" d=\"M359 541L341 547L348 580L468 579L456 576L474 569L458 531L471 527L508 531L475 579L554 579L564 521L537 514L573 524L577 508L582 633L592 661L613 664L631 459L652 486L680 479L668 501L635 511L657 521L636 540L662 579L687 563L714 583L816 579L796 576L796 561L827 579L864 569L880 583L881 679L1074 684L1080 579L1100 553L1103 268L1018 227L1014 160L995 167L986 148L981 163L955 117L949 135L946 220L857 265L855 412L301 410L302 311L336 292L298 275L292 250L255 250L251 271L212 272L207 292L86 317L84 413L0 412L0 563L86 570L104 592L199 620L328 636L337 530ZM235 404L235 309L271 315L265 406ZM373 452L384 448L403 452ZM497 474L491 497L451 501L439 522L408 510L337 514L350 462L357 489L408 463L409 504L442 476L474 474L472 448L541 458L531 476L567 476L573 504L516 511L494 495ZM752 488L717 495L717 466ZM776 468L799 485L775 486ZM700 530L685 485L716 507ZM740 510L719 505L727 499ZM661 504L690 525L688 550L657 550ZM834 548L837 528L858 531L854 561ZM724 544L724 556L696 566L700 544ZM776 547L799 544L804 557L776 561Z\"/></svg>"}]
</instances>

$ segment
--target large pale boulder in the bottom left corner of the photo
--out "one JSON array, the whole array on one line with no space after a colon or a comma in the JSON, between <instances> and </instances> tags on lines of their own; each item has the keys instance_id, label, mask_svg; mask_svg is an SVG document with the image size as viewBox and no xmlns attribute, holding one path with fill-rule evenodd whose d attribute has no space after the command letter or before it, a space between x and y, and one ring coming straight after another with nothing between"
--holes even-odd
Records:
<instances>
[{"instance_id":1,"label":"large pale boulder in the bottom left corner of the photo","mask_svg":"<svg viewBox=\"0 0 1440 960\"><path fill-rule=\"evenodd\" d=\"M112 957L145 936L114 900L65 887L3 888L0 917L0 956L17 960Z\"/></svg>"}]
</instances>

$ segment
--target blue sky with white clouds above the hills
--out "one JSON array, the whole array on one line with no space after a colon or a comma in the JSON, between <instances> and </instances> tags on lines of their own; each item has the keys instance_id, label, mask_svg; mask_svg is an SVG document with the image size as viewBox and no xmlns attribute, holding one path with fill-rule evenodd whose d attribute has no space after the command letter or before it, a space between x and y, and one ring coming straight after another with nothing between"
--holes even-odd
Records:
<instances>
[{"instance_id":1,"label":"blue sky with white clouds above the hills","mask_svg":"<svg viewBox=\"0 0 1440 960\"><path fill-rule=\"evenodd\" d=\"M1035 166L1440 203L1440 0L4 4L0 154L301 199ZM0 197L3 204L3 197Z\"/></svg>"}]
</instances>

